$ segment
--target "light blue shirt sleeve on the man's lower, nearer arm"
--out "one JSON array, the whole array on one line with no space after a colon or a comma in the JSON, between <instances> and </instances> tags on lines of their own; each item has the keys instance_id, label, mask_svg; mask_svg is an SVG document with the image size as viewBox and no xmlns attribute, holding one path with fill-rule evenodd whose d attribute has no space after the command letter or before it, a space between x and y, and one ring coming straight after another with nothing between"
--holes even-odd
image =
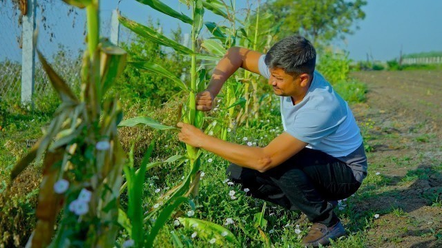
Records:
<instances>
[{"instance_id":1,"label":"light blue shirt sleeve on the man's lower, nearer arm","mask_svg":"<svg viewBox=\"0 0 442 248\"><path fill-rule=\"evenodd\" d=\"M287 132L298 140L310 145L318 145L323 138L338 130L346 116L335 118L331 113L320 110L304 110L296 116L294 124Z\"/></svg>"}]
</instances>

